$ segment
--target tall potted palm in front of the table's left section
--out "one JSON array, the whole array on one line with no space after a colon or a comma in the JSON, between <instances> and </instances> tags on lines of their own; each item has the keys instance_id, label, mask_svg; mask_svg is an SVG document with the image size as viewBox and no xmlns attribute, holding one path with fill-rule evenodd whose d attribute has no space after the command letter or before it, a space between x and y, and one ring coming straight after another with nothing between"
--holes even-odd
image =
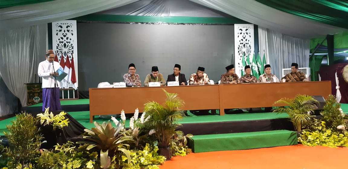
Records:
<instances>
[{"instance_id":1,"label":"tall potted palm in front of the table's left section","mask_svg":"<svg viewBox=\"0 0 348 169\"><path fill-rule=\"evenodd\" d=\"M185 114L179 107L183 107L184 102L176 93L166 94L166 99L163 104L157 102L149 102L145 104L144 111L151 116L147 121L147 126L152 129L154 137L158 141L159 155L166 157L166 160L171 159L170 144L174 135L180 134L181 131L175 131L181 124L178 120L182 119Z\"/></svg>"}]
</instances>

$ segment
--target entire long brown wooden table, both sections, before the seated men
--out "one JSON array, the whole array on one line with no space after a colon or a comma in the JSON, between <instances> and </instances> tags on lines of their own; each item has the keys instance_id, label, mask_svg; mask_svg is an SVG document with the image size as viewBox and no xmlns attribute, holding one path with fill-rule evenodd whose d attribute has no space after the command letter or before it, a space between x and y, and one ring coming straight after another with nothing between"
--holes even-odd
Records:
<instances>
[{"instance_id":1,"label":"entire long brown wooden table, both sections, before the seated men","mask_svg":"<svg viewBox=\"0 0 348 169\"><path fill-rule=\"evenodd\" d=\"M281 98L294 98L298 94L323 96L331 94L331 81L214 84L198 86L89 88L89 116L92 123L95 115L134 113L149 101L163 103L165 89L177 93L184 100L182 110L220 109L224 115L227 108L271 107Z\"/></svg>"}]
</instances>

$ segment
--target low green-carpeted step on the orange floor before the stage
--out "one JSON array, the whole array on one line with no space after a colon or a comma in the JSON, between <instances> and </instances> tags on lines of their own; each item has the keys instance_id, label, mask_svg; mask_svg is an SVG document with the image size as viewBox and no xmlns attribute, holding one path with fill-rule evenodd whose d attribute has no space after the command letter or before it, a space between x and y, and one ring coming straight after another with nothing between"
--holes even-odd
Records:
<instances>
[{"instance_id":1,"label":"low green-carpeted step on the orange floor before the stage","mask_svg":"<svg viewBox=\"0 0 348 169\"><path fill-rule=\"evenodd\" d=\"M189 147L195 153L247 150L297 144L297 133L288 130L193 136Z\"/></svg>"}]
</instances>

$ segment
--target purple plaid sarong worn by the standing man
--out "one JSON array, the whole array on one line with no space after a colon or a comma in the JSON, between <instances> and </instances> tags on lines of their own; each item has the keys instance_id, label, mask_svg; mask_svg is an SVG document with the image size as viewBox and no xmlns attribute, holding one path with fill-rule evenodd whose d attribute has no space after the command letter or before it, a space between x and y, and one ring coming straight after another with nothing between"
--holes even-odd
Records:
<instances>
[{"instance_id":1,"label":"purple plaid sarong worn by the standing man","mask_svg":"<svg viewBox=\"0 0 348 169\"><path fill-rule=\"evenodd\" d=\"M49 111L62 110L59 88L42 88L42 111L49 107Z\"/></svg>"}]
</instances>

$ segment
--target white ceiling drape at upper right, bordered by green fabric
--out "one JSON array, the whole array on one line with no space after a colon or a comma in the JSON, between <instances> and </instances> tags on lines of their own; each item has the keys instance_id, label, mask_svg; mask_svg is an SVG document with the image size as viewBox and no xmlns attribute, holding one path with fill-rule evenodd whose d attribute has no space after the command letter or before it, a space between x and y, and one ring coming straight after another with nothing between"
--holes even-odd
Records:
<instances>
[{"instance_id":1,"label":"white ceiling drape at upper right, bordered by green fabric","mask_svg":"<svg viewBox=\"0 0 348 169\"><path fill-rule=\"evenodd\" d=\"M292 37L309 39L346 30L288 14L254 0L190 1Z\"/></svg>"}]
</instances>

